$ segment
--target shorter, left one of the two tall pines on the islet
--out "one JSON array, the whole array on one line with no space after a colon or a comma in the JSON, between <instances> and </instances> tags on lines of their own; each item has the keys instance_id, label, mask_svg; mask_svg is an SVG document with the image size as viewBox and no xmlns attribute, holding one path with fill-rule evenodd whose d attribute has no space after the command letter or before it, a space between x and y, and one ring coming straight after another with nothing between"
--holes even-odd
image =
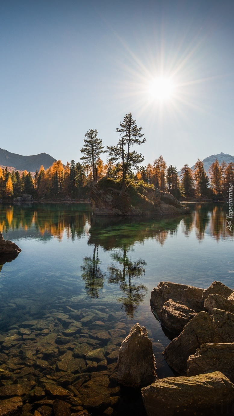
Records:
<instances>
[{"instance_id":1,"label":"shorter, left one of the two tall pines on the islet","mask_svg":"<svg viewBox=\"0 0 234 416\"><path fill-rule=\"evenodd\" d=\"M104 146L102 145L102 139L97 137L98 132L97 130L89 130L86 131L84 139L84 146L81 149L81 153L85 156L82 156L80 160L83 160L89 166L92 166L92 173L93 173L93 182L97 183L97 172L96 172L96 164L97 158L102 154L105 153L103 151Z\"/></svg>"}]
</instances>

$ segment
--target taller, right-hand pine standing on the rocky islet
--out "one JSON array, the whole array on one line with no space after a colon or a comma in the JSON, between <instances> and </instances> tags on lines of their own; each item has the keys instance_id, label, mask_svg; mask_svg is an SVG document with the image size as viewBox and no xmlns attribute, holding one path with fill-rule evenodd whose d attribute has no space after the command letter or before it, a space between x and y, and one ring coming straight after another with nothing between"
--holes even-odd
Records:
<instances>
[{"instance_id":1,"label":"taller, right-hand pine standing on the rocky islet","mask_svg":"<svg viewBox=\"0 0 234 416\"><path fill-rule=\"evenodd\" d=\"M122 189L119 196L123 196L126 191L127 173L130 173L131 169L137 171L143 169L139 165L144 161L144 157L135 150L131 151L130 148L131 146L145 143L146 139L140 140L144 136L141 133L142 127L136 125L131 113L126 114L123 122L120 122L120 127L115 130L121 136L118 144L116 146L107 146L107 151L109 156L108 163L112 164L121 160Z\"/></svg>"}]
</instances>

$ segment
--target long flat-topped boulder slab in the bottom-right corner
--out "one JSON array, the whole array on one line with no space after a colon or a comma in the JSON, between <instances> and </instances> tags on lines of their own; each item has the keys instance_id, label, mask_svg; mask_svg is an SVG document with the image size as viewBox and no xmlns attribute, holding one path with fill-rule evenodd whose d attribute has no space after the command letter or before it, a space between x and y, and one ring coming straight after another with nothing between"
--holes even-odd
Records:
<instances>
[{"instance_id":1,"label":"long flat-topped boulder slab in the bottom-right corner","mask_svg":"<svg viewBox=\"0 0 234 416\"><path fill-rule=\"evenodd\" d=\"M219 371L160 379L141 392L148 416L210 416L218 406L228 410L234 399L234 385Z\"/></svg>"}]
</instances>

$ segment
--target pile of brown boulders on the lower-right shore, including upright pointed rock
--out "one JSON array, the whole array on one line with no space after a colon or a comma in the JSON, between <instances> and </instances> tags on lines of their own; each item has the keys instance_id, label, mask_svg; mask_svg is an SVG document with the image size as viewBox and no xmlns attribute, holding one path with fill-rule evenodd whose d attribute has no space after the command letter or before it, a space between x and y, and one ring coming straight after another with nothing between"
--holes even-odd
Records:
<instances>
[{"instance_id":1,"label":"pile of brown boulders on the lower-right shore, including upright pointed rock","mask_svg":"<svg viewBox=\"0 0 234 416\"><path fill-rule=\"evenodd\" d=\"M163 351L167 364L179 376L157 379L141 392L148 416L233 414L234 405L234 290L221 282L208 289L161 282L151 293L151 307L160 322L179 334ZM152 344L148 351L133 338L140 330L136 324L121 344L118 359L118 381L134 386L129 367L135 357L148 357L148 375L155 371ZM147 336L146 329L143 330ZM137 337L137 335L135 336ZM128 343L128 348L125 344ZM123 360L123 354L125 358ZM151 356L150 356L151 354ZM126 362L124 371L120 362ZM139 366L140 367L140 366ZM157 360L156 360L157 367ZM133 367L134 368L134 367ZM140 368L135 369L138 379ZM151 373L150 373L151 371ZM124 373L124 375L123 375ZM132 384L130 384L130 382ZM140 384L140 383L138 383Z\"/></svg>"}]
</instances>

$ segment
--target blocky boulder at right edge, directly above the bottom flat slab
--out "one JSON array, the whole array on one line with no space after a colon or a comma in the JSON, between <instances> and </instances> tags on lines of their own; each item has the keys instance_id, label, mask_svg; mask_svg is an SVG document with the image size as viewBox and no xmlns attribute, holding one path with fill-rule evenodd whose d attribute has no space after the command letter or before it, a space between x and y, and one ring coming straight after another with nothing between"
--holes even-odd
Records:
<instances>
[{"instance_id":1,"label":"blocky boulder at right edge, directly above the bottom flat slab","mask_svg":"<svg viewBox=\"0 0 234 416\"><path fill-rule=\"evenodd\" d=\"M187 361L187 376L221 371L234 382L234 342L203 344Z\"/></svg>"}]
</instances>

